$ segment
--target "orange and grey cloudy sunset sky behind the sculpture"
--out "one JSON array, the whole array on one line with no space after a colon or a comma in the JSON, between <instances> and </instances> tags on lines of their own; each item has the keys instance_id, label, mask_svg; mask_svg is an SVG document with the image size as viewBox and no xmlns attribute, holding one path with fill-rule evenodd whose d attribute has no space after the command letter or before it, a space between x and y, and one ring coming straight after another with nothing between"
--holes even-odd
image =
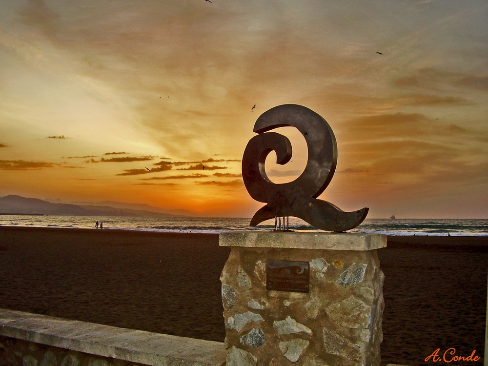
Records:
<instances>
[{"instance_id":1,"label":"orange and grey cloudy sunset sky behind the sculpture","mask_svg":"<svg viewBox=\"0 0 488 366\"><path fill-rule=\"evenodd\" d=\"M486 0L2 0L0 196L251 217L244 148L294 103L336 137L319 199L488 218L487 45Z\"/></svg>"}]
</instances>

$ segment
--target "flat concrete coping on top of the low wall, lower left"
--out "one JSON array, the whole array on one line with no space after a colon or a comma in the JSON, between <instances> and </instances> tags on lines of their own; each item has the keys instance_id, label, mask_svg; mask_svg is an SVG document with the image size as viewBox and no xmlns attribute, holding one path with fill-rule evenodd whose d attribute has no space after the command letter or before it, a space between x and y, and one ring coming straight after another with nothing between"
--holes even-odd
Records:
<instances>
[{"instance_id":1,"label":"flat concrete coping on top of the low wall, lower left","mask_svg":"<svg viewBox=\"0 0 488 366\"><path fill-rule=\"evenodd\" d=\"M222 366L223 343L0 308L0 335L145 365Z\"/></svg>"}]
</instances>

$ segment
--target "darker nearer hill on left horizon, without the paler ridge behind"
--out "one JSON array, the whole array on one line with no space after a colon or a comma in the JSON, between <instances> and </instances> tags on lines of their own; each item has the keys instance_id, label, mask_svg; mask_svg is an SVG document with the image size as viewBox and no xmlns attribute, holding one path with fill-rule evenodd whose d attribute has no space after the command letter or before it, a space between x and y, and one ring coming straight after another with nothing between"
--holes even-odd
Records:
<instances>
[{"instance_id":1,"label":"darker nearer hill on left horizon, without the paler ridge behind","mask_svg":"<svg viewBox=\"0 0 488 366\"><path fill-rule=\"evenodd\" d=\"M26 198L16 195L0 197L0 213L2 214L42 214L42 215L73 215L73 216L172 216L161 212L134 210L110 206L78 205L70 203L51 203L37 198Z\"/></svg>"}]
</instances>

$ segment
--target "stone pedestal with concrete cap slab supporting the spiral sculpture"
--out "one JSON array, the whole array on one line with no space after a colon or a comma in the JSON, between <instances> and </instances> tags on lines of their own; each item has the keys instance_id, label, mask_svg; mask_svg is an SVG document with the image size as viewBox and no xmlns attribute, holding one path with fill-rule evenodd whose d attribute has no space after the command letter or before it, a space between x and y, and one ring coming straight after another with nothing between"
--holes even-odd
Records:
<instances>
[{"instance_id":1,"label":"stone pedestal with concrete cap slab supporting the spiral sculpture","mask_svg":"<svg viewBox=\"0 0 488 366\"><path fill-rule=\"evenodd\" d=\"M231 232L219 243L231 247L221 276L227 366L380 365L376 249L386 236ZM268 260L307 263L308 292L268 290Z\"/></svg>"}]
</instances>

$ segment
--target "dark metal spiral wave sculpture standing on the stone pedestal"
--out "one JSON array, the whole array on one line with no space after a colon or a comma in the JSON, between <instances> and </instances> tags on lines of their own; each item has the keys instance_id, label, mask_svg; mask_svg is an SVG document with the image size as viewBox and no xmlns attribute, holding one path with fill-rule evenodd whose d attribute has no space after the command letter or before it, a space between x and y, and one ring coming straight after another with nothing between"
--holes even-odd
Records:
<instances>
[{"instance_id":1,"label":"dark metal spiral wave sculpture standing on the stone pedestal","mask_svg":"<svg viewBox=\"0 0 488 366\"><path fill-rule=\"evenodd\" d=\"M289 139L274 128L291 126L305 137L308 161L304 172L289 183L273 183L264 170L271 151L276 163L284 165L292 156ZM329 124L320 115L302 105L284 104L269 109L257 119L244 150L242 173L249 195L266 203L252 217L250 226L277 217L298 217L318 229L342 232L361 224L368 208L342 211L327 201L317 199L332 180L337 164L337 143Z\"/></svg>"}]
</instances>

